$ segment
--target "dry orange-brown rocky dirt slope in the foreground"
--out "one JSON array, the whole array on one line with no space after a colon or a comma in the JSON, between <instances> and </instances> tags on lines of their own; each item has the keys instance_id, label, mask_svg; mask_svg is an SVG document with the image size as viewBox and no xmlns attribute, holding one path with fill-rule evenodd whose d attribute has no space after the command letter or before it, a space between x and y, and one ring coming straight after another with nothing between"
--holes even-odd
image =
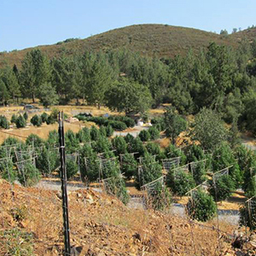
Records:
<instances>
[{"instance_id":1,"label":"dry orange-brown rocky dirt slope in the foreground","mask_svg":"<svg viewBox=\"0 0 256 256\"><path fill-rule=\"evenodd\" d=\"M32 246L38 256L61 255L60 193L0 183L0 255L14 255L8 245ZM220 224L218 232L213 223L203 227L163 212L131 209L90 189L68 196L71 243L83 247L80 255L243 255L231 247L229 234L236 227L230 224ZM3 235L14 229L32 234L31 243Z\"/></svg>"}]
</instances>

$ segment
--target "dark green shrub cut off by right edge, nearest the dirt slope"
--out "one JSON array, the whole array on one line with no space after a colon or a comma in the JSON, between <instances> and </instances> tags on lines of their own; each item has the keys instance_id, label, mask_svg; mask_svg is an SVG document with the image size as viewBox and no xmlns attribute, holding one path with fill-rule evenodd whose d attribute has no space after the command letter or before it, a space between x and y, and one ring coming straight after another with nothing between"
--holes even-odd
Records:
<instances>
[{"instance_id":1,"label":"dark green shrub cut off by right edge, nearest the dirt slope","mask_svg":"<svg viewBox=\"0 0 256 256\"><path fill-rule=\"evenodd\" d=\"M240 208L241 225L249 227L250 230L256 230L256 198L253 198L250 202L247 202Z\"/></svg>"}]
</instances>

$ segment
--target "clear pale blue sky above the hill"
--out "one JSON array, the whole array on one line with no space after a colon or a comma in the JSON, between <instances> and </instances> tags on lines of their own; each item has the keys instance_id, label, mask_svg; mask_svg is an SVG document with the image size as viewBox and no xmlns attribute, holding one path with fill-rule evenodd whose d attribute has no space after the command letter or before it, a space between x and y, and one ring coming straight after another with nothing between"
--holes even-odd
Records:
<instances>
[{"instance_id":1,"label":"clear pale blue sky above the hill","mask_svg":"<svg viewBox=\"0 0 256 256\"><path fill-rule=\"evenodd\" d=\"M0 51L145 23L231 32L256 25L255 11L255 0L0 0Z\"/></svg>"}]
</instances>

